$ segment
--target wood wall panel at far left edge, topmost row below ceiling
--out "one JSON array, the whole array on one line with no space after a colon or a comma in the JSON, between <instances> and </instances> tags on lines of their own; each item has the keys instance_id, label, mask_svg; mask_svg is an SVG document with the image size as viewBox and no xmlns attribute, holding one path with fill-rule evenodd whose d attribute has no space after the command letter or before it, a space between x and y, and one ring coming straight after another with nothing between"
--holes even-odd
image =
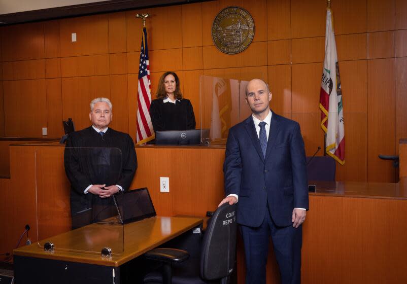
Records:
<instances>
[{"instance_id":1,"label":"wood wall panel at far left edge, topmost row below ceiling","mask_svg":"<svg viewBox=\"0 0 407 284\"><path fill-rule=\"evenodd\" d=\"M3 61L44 58L44 24L29 23L3 28Z\"/></svg>"}]
</instances>

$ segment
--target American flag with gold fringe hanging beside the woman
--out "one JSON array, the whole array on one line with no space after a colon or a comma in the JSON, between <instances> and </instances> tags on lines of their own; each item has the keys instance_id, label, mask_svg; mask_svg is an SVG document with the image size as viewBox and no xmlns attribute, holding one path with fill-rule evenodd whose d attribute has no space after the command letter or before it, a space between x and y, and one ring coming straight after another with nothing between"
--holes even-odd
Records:
<instances>
[{"instance_id":1,"label":"American flag with gold fringe hanging beside the woman","mask_svg":"<svg viewBox=\"0 0 407 284\"><path fill-rule=\"evenodd\" d=\"M147 30L143 28L139 62L139 96L137 98L137 144L146 143L154 138L153 124L150 118L151 83L148 61Z\"/></svg>"}]
</instances>

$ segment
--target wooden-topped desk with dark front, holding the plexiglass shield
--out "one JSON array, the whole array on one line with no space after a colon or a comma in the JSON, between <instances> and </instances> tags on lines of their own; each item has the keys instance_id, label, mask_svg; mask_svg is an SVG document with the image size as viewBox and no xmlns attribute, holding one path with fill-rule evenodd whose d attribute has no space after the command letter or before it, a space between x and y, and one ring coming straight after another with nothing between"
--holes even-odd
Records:
<instances>
[{"instance_id":1,"label":"wooden-topped desk with dark front, holding the plexiglass shield","mask_svg":"<svg viewBox=\"0 0 407 284\"><path fill-rule=\"evenodd\" d=\"M91 283L96 279L98 283L113 280L120 283L123 264L201 223L202 219L198 218L153 217L123 227L91 224L40 241L53 242L56 247L53 253L45 252L38 243L14 250L14 276L18 283ZM113 244L112 258L101 258L97 251L110 244ZM58 247L72 250L58 250ZM69 274L65 273L67 270Z\"/></svg>"}]
</instances>

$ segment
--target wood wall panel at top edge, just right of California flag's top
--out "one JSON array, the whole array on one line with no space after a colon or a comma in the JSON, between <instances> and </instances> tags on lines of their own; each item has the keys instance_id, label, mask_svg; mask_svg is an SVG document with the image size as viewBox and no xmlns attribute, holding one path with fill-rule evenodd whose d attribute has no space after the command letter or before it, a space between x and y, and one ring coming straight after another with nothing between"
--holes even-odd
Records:
<instances>
[{"instance_id":1,"label":"wood wall panel at top edge, just right of California flag's top","mask_svg":"<svg viewBox=\"0 0 407 284\"><path fill-rule=\"evenodd\" d=\"M335 1L331 2L331 9L335 35L367 31L366 1Z\"/></svg>"}]
</instances>

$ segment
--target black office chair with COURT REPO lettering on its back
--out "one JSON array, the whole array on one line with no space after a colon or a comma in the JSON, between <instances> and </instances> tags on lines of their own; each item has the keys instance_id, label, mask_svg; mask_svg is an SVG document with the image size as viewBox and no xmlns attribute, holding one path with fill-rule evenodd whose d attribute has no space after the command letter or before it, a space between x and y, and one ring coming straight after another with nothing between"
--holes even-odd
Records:
<instances>
[{"instance_id":1,"label":"black office chair with COURT REPO lettering on its back","mask_svg":"<svg viewBox=\"0 0 407 284\"><path fill-rule=\"evenodd\" d=\"M162 270L147 274L144 283L226 284L235 264L236 207L225 203L216 209L203 235L200 256L189 258L188 252L176 248L147 252L146 258L161 262Z\"/></svg>"}]
</instances>

